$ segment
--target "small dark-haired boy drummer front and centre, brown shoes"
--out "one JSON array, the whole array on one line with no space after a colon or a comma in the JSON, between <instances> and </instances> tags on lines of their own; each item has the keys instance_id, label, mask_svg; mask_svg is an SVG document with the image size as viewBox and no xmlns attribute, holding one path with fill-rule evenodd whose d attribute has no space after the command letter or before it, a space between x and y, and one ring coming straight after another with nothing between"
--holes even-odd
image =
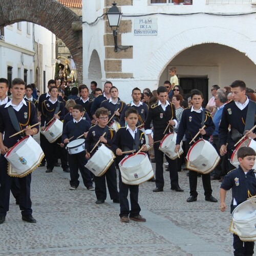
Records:
<instances>
[{"instance_id":1,"label":"small dark-haired boy drummer front and centre, brown shoes","mask_svg":"<svg viewBox=\"0 0 256 256\"><path fill-rule=\"evenodd\" d=\"M143 147L146 151L145 135L137 129L136 124L139 119L139 113L136 109L130 108L125 111L124 120L127 122L126 127L121 127L114 138L112 148L118 156L122 156L122 152L136 150ZM124 157L124 156L123 156ZM119 160L121 158L119 157ZM131 210L129 210L129 202L127 199L130 190ZM121 222L141 221L146 219L140 215L140 206L138 203L139 185L127 185L122 183L121 174L119 171L119 197L120 197L120 218ZM130 219L129 219L130 216Z\"/></svg>"}]
</instances>

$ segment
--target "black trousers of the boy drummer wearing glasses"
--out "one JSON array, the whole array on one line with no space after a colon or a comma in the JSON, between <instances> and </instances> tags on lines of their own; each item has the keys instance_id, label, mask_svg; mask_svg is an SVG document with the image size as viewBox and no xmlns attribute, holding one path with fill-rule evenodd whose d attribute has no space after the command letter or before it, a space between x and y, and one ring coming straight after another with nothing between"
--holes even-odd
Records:
<instances>
[{"instance_id":1,"label":"black trousers of the boy drummer wearing glasses","mask_svg":"<svg viewBox=\"0 0 256 256\"><path fill-rule=\"evenodd\" d=\"M99 159L100 161L100 159ZM97 199L106 199L106 183L111 199L119 199L119 193L117 191L117 176L115 161L110 165L109 169L100 177L95 176L95 194Z\"/></svg>"}]
</instances>

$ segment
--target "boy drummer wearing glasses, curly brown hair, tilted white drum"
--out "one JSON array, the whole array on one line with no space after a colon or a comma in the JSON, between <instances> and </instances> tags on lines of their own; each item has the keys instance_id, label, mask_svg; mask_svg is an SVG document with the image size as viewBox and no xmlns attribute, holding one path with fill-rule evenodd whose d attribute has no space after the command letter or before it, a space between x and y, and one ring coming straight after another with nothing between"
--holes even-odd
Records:
<instances>
[{"instance_id":1,"label":"boy drummer wearing glasses, curly brown hair, tilted white drum","mask_svg":"<svg viewBox=\"0 0 256 256\"><path fill-rule=\"evenodd\" d=\"M86 138L86 158L90 159L97 151L97 147L93 150L96 143L100 140L105 146L111 147L115 131L110 129L108 125L109 111L105 108L99 108L95 112L97 125L91 127ZM103 136L103 134L105 136ZM98 159L100 161L100 159ZM106 199L106 182L108 183L108 189L110 193L110 198L113 203L119 203L119 193L117 191L117 176L115 161L110 165L109 169L100 177L95 176L95 194L97 197L96 204L103 204Z\"/></svg>"}]
</instances>

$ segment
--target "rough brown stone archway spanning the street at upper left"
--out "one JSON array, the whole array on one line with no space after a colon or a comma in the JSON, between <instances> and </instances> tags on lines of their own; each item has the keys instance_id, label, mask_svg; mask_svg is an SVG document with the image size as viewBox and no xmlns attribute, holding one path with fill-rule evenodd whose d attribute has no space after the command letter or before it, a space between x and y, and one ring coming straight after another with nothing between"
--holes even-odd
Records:
<instances>
[{"instance_id":1,"label":"rough brown stone archway spanning the street at upper left","mask_svg":"<svg viewBox=\"0 0 256 256\"><path fill-rule=\"evenodd\" d=\"M79 16L56 0L1 0L0 27L22 21L50 30L65 43L76 64L77 80L82 82L82 30L72 29L81 25Z\"/></svg>"}]
</instances>

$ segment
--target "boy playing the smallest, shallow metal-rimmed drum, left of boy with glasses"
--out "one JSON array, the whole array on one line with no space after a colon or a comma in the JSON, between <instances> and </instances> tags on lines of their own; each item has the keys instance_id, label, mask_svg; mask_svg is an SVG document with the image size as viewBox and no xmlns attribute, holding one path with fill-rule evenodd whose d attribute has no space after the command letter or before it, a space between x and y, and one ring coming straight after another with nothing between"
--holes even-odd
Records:
<instances>
[{"instance_id":1,"label":"boy playing the smallest, shallow metal-rimmed drum, left of boy with glasses","mask_svg":"<svg viewBox=\"0 0 256 256\"><path fill-rule=\"evenodd\" d=\"M87 136L91 124L87 120L82 119L83 108L81 105L76 104L72 110L73 120L67 122L62 133L62 143L69 143L75 140L77 137L83 134L83 137ZM72 138L73 137L73 138ZM69 138L72 138L69 140ZM70 168L70 190L75 190L79 185L78 168L82 175L84 186L89 190L94 190L93 183L91 181L90 170L84 167L87 164L86 152L82 151L77 154L68 154L69 168Z\"/></svg>"}]
</instances>

